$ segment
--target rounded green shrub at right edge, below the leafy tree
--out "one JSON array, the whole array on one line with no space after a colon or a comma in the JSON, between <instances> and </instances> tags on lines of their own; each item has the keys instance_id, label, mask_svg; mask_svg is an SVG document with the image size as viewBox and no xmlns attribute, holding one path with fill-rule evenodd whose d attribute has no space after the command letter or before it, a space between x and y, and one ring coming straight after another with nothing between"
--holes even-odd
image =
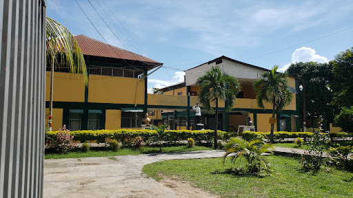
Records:
<instances>
[{"instance_id":1,"label":"rounded green shrub at right edge, below the leafy tree","mask_svg":"<svg viewBox=\"0 0 353 198\"><path fill-rule=\"evenodd\" d=\"M341 113L336 115L334 122L347 133L353 133L353 106L350 108L343 107Z\"/></svg>"}]
</instances>

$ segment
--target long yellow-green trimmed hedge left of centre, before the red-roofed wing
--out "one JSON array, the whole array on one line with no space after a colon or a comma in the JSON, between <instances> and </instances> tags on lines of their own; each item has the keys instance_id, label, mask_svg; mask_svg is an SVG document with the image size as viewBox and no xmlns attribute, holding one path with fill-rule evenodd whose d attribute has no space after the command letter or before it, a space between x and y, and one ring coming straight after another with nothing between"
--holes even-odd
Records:
<instances>
[{"instance_id":1,"label":"long yellow-green trimmed hedge left of centre, before the red-roofed wing","mask_svg":"<svg viewBox=\"0 0 353 198\"><path fill-rule=\"evenodd\" d=\"M57 138L59 131L48 131L46 132L46 142L53 141ZM214 131L202 130L202 131L190 131L190 130L168 130L167 141L178 141L188 140L193 138L196 142L212 142L214 137ZM86 142L88 140L97 140L99 143L104 143L106 138L117 140L118 142L128 142L135 137L143 137L143 140L154 143L154 136L157 134L154 130L133 130L133 129L119 129L119 130L97 130L97 131L70 131L70 135L74 136L73 140ZM219 139L223 139L226 132L218 131L217 135Z\"/></svg>"}]
</instances>

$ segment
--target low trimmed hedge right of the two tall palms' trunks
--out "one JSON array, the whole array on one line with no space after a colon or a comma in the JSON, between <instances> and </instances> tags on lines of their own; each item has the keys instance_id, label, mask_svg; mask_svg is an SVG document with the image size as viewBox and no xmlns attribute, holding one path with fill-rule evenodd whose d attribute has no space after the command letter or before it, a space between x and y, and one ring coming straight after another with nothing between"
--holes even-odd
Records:
<instances>
[{"instance_id":1,"label":"low trimmed hedge right of the two tall palms' trunks","mask_svg":"<svg viewBox=\"0 0 353 198\"><path fill-rule=\"evenodd\" d=\"M286 132L286 131L278 131L274 132L274 139L284 139L284 138L296 138L296 137L312 137L314 133L311 132ZM344 138L348 137L348 133L328 133L331 138L339 137ZM270 138L270 132L253 132L253 131L245 131L241 135L245 140L252 140L256 137L260 138Z\"/></svg>"}]
</instances>

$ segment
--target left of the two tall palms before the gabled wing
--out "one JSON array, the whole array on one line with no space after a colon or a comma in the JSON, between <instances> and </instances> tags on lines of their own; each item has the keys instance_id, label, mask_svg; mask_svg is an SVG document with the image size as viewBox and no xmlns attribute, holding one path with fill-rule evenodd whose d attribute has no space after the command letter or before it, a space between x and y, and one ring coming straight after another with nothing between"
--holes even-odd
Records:
<instances>
[{"instance_id":1,"label":"left of the two tall palms before the gabled wing","mask_svg":"<svg viewBox=\"0 0 353 198\"><path fill-rule=\"evenodd\" d=\"M236 94L241 87L238 80L228 74L222 74L218 65L205 72L205 75L199 77L196 85L200 87L199 101L203 104L209 113L216 113L214 129L214 149L217 148L217 128L218 128L218 102L219 100L228 100L228 106L225 111L233 109ZM216 102L216 111L211 107L211 102Z\"/></svg>"}]
</instances>

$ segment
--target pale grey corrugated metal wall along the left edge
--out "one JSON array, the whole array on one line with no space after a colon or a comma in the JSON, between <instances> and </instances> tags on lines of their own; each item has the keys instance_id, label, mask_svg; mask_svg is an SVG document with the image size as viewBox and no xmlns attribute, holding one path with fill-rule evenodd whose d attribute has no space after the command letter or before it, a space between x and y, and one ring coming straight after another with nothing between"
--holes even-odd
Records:
<instances>
[{"instance_id":1,"label":"pale grey corrugated metal wall along the left edge","mask_svg":"<svg viewBox=\"0 0 353 198\"><path fill-rule=\"evenodd\" d=\"M0 197L43 197L46 8L0 0Z\"/></svg>"}]
</instances>

